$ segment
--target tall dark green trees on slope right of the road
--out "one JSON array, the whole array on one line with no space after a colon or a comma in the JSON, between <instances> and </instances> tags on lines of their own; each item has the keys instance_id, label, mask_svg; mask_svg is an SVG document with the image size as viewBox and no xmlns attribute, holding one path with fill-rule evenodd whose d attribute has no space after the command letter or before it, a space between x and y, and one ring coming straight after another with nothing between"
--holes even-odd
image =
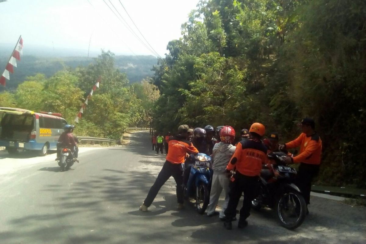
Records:
<instances>
[{"instance_id":1,"label":"tall dark green trees on slope right of the road","mask_svg":"<svg viewBox=\"0 0 366 244\"><path fill-rule=\"evenodd\" d=\"M313 117L319 184L365 188L366 2L201 1L169 42L152 82L159 130L258 121L281 141Z\"/></svg>"}]
</instances>

